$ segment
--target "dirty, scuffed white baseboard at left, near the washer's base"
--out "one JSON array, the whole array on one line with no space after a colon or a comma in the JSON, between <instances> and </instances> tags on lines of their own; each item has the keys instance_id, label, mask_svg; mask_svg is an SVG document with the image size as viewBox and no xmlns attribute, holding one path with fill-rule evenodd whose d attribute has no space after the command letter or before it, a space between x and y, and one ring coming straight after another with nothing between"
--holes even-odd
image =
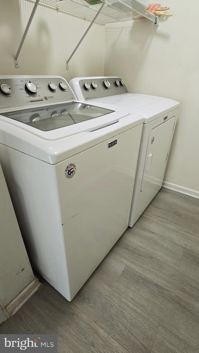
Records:
<instances>
[{"instance_id":1,"label":"dirty, scuffed white baseboard at left, near the washer's base","mask_svg":"<svg viewBox=\"0 0 199 353\"><path fill-rule=\"evenodd\" d=\"M34 279L28 284L27 287L20 292L16 298L14 298L7 306L6 311L8 315L12 317L25 302L37 291L37 289L42 285L40 281L34 277Z\"/></svg>"}]
</instances>

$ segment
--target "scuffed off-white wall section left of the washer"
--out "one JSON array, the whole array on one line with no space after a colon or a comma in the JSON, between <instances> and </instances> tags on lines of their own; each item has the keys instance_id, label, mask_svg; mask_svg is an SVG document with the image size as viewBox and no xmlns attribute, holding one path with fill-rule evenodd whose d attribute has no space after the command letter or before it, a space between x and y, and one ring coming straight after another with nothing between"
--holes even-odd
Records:
<instances>
[{"instance_id":1,"label":"scuffed off-white wall section left of the washer","mask_svg":"<svg viewBox=\"0 0 199 353\"><path fill-rule=\"evenodd\" d=\"M5 307L34 280L0 165L0 306Z\"/></svg>"}]
</instances>

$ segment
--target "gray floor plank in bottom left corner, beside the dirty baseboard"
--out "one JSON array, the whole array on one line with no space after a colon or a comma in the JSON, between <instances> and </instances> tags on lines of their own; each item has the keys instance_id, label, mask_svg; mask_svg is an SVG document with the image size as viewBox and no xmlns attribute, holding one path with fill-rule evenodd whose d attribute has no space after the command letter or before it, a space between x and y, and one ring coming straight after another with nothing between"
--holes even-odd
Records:
<instances>
[{"instance_id":1,"label":"gray floor plank in bottom left corner, beside the dirty baseboard","mask_svg":"<svg viewBox=\"0 0 199 353\"><path fill-rule=\"evenodd\" d=\"M116 341L48 283L41 288L16 316L1 325L0 333L58 334L59 353L125 353Z\"/></svg>"}]
</instances>

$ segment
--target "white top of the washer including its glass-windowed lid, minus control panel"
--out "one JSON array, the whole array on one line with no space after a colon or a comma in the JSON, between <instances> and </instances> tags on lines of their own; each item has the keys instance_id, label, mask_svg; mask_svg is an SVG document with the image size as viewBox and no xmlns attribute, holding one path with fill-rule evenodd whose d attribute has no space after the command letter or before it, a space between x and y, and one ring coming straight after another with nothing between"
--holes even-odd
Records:
<instances>
[{"instance_id":1,"label":"white top of the washer including its glass-windowed lid, minus control panel","mask_svg":"<svg viewBox=\"0 0 199 353\"><path fill-rule=\"evenodd\" d=\"M110 109L106 107L106 104L101 107L96 103L93 107L87 103L73 103L0 115L0 143L55 164L143 123L141 116L129 114L127 110L118 107L113 110L111 106ZM40 122L42 116L44 119ZM17 117L18 120L15 120ZM54 128L57 126L56 119L58 127ZM43 130L40 130L41 127ZM54 130L44 131L44 128L47 130L49 127Z\"/></svg>"}]
</instances>

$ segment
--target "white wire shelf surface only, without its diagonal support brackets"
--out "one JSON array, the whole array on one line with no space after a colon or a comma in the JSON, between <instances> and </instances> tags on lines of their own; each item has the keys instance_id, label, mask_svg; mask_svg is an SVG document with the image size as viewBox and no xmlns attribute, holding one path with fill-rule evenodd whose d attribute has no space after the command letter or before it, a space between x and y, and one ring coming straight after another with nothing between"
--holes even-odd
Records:
<instances>
[{"instance_id":1,"label":"white wire shelf surface only, without its diagonal support brackets","mask_svg":"<svg viewBox=\"0 0 199 353\"><path fill-rule=\"evenodd\" d=\"M40 2L89 20L94 19L101 5L105 3L96 20L102 24L141 18L157 22L157 17L136 0L40 0Z\"/></svg>"}]
</instances>

